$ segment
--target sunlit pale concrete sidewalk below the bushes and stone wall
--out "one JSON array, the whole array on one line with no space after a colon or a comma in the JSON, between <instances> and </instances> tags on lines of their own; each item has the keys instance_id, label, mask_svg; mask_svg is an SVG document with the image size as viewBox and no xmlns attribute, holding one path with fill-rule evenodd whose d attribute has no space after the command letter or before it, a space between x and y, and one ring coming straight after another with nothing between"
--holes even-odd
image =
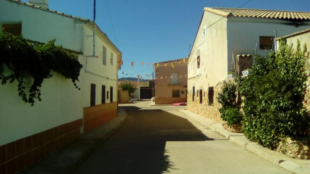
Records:
<instances>
[{"instance_id":1,"label":"sunlit pale concrete sidewalk below the bushes and stone wall","mask_svg":"<svg viewBox=\"0 0 310 174\"><path fill-rule=\"evenodd\" d=\"M294 174L310 174L310 160L293 159L286 157L285 154L265 148L255 142L252 142L244 136L243 133L231 133L224 129L221 123L210 120L201 115L197 115L188 110L178 110L189 116L191 119L203 124L212 129L216 133L226 137L228 140L237 143L238 145L250 150L252 153L278 165Z\"/></svg>"}]
</instances>

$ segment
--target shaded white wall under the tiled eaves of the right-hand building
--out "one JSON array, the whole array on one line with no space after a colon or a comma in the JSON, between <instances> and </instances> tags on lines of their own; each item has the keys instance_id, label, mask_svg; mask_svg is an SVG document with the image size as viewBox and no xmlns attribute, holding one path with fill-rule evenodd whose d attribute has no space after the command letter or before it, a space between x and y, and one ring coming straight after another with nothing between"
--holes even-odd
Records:
<instances>
[{"instance_id":1,"label":"shaded white wall under the tiled eaves of the right-hand building","mask_svg":"<svg viewBox=\"0 0 310 174\"><path fill-rule=\"evenodd\" d=\"M258 43L257 54L267 56L270 51L259 49L259 36L274 37L274 30L277 30L277 37L281 37L310 27L310 22L305 22L305 25L300 25L299 27L289 25L290 23L291 21L278 19L228 17L227 72L230 71L232 52L234 53L234 57L236 57L237 54L254 55L256 42Z\"/></svg>"}]
</instances>

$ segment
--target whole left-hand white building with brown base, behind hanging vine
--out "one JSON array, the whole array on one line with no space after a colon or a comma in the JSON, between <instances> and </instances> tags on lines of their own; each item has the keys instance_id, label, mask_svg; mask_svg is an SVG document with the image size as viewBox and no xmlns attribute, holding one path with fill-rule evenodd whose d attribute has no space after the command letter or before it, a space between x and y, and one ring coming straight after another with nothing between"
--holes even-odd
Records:
<instances>
[{"instance_id":1,"label":"whole left-hand white building with brown base, behind hanging vine","mask_svg":"<svg viewBox=\"0 0 310 174\"><path fill-rule=\"evenodd\" d=\"M0 85L0 146L8 149L13 144L17 148L20 142L32 143L12 159L47 143L58 149L117 115L117 70L122 53L96 25L95 57L93 21L49 10L48 0L30 2L1 0L0 28L32 41L47 43L55 38L55 45L78 52L83 65L77 82L81 90L75 89L70 79L53 73L42 83L42 101L31 107L18 96L17 82ZM40 141L44 133L51 135L49 141ZM37 138L39 143L33 144Z\"/></svg>"}]
</instances>

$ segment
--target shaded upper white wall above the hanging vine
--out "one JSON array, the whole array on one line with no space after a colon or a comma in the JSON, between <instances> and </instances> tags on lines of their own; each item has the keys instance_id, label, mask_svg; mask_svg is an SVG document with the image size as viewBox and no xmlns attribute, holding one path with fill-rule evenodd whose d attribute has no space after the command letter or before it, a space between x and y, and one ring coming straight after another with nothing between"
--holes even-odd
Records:
<instances>
[{"instance_id":1,"label":"shaded upper white wall above the hanging vine","mask_svg":"<svg viewBox=\"0 0 310 174\"><path fill-rule=\"evenodd\" d=\"M35 7L0 1L0 29L2 24L22 24L22 35L30 40L55 44L81 52L83 49L83 28L81 20L43 11ZM35 34L34 34L35 33Z\"/></svg>"}]
</instances>

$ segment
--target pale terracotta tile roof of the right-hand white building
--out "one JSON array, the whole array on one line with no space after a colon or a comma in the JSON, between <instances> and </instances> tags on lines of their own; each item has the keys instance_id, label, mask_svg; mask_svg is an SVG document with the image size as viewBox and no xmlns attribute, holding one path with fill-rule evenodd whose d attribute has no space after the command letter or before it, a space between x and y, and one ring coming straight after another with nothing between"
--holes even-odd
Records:
<instances>
[{"instance_id":1,"label":"pale terracotta tile roof of the right-hand white building","mask_svg":"<svg viewBox=\"0 0 310 174\"><path fill-rule=\"evenodd\" d=\"M262 10L247 8L210 8L205 7L206 11L222 15L224 17L255 17L271 19L288 19L288 20L310 20L310 12L299 11L279 11L279 10Z\"/></svg>"}]
</instances>

